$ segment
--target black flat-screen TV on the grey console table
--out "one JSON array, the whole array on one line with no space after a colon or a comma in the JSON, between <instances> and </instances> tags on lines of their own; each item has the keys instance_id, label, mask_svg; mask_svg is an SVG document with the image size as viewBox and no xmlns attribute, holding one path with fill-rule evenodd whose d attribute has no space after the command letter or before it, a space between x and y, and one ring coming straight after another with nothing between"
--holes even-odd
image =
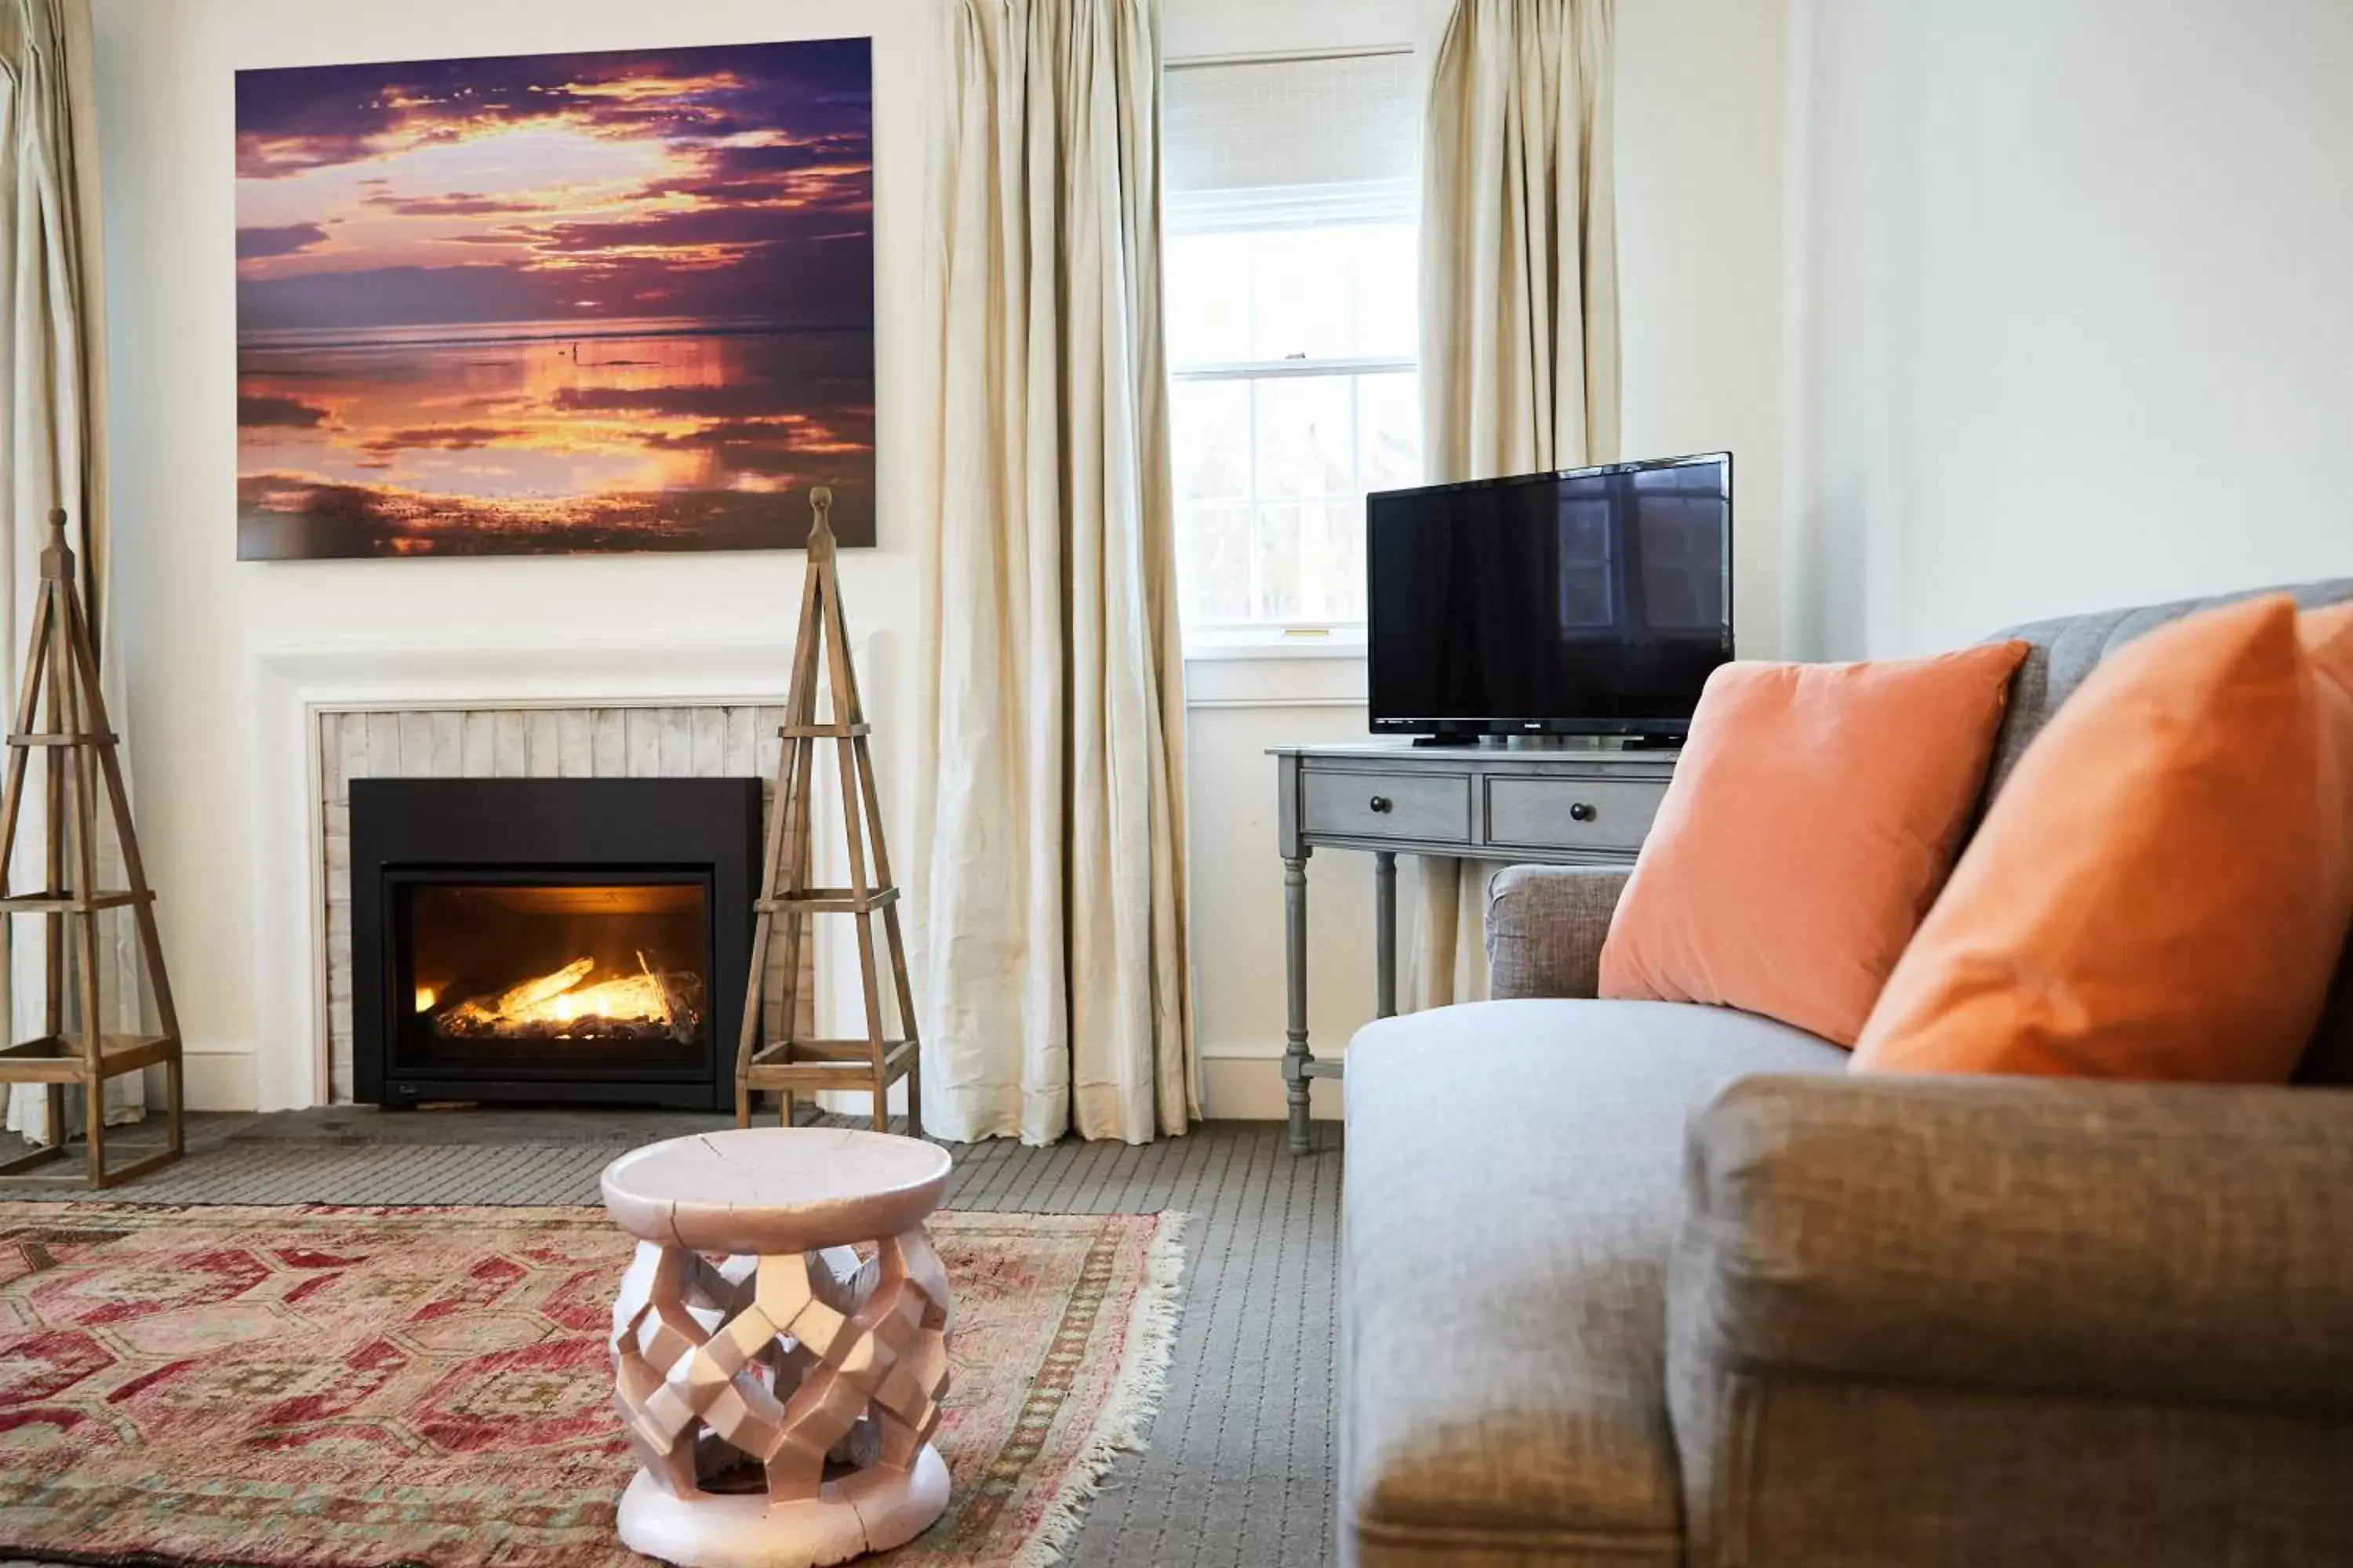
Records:
<instances>
[{"instance_id":1,"label":"black flat-screen TV on the grey console table","mask_svg":"<svg viewBox=\"0 0 2353 1568\"><path fill-rule=\"evenodd\" d=\"M1732 658L1732 454L1365 498L1372 729L1682 736Z\"/></svg>"}]
</instances>

